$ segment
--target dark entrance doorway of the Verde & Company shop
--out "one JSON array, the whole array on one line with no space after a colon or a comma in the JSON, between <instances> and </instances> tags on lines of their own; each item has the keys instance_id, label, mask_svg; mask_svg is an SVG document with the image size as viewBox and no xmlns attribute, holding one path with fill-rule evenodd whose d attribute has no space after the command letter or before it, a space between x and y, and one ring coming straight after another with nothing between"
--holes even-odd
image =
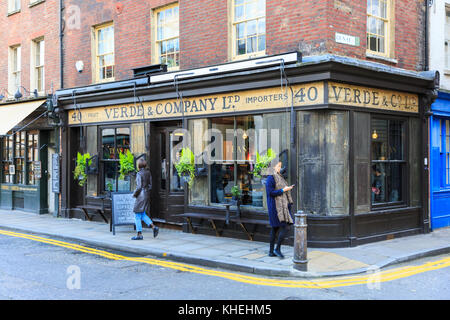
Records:
<instances>
[{"instance_id":1,"label":"dark entrance doorway of the Verde & Company shop","mask_svg":"<svg viewBox=\"0 0 450 320\"><path fill-rule=\"evenodd\" d=\"M156 221L181 225L177 214L184 212L184 184L172 163L173 148L183 136L174 134L181 121L151 124L150 169L152 173L152 218Z\"/></svg>"}]
</instances>

